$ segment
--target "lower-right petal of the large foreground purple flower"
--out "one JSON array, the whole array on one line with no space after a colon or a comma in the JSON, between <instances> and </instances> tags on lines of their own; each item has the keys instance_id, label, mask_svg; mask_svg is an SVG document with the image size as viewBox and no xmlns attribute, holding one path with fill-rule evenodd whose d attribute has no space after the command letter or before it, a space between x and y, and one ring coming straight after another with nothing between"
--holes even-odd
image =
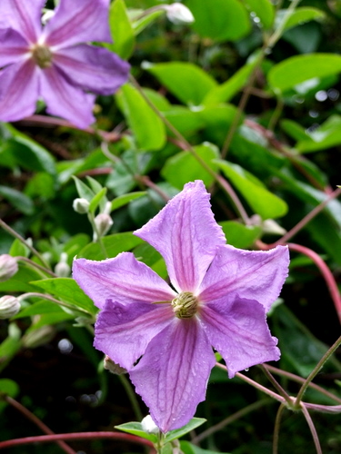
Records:
<instances>
[{"instance_id":1,"label":"lower-right petal of the large foreground purple flower","mask_svg":"<svg viewBox=\"0 0 341 454\"><path fill-rule=\"evenodd\" d=\"M265 309L257 301L236 298L226 304L211 302L202 308L200 321L208 340L226 361L230 379L238 370L279 360L277 340L271 336Z\"/></svg>"}]
</instances>

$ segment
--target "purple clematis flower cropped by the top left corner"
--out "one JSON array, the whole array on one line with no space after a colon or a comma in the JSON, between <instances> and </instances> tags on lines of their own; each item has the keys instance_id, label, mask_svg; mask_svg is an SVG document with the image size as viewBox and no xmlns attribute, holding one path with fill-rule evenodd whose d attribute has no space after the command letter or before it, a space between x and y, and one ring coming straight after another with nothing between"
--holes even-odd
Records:
<instances>
[{"instance_id":1,"label":"purple clematis flower cropped by the top left corner","mask_svg":"<svg viewBox=\"0 0 341 454\"><path fill-rule=\"evenodd\" d=\"M94 94L114 93L129 71L117 55L85 44L111 43L109 0L61 0L43 28L44 5L45 0L0 2L0 120L34 114L43 98L49 114L85 128L95 121Z\"/></svg>"}]
</instances>

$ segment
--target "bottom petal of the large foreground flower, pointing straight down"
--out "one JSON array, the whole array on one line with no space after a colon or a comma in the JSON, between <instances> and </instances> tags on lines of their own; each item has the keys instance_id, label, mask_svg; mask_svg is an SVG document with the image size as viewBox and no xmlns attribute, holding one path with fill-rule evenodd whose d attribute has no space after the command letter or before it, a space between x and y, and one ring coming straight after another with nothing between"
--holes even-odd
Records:
<instances>
[{"instance_id":1,"label":"bottom petal of the large foreground flower, pointing straight down","mask_svg":"<svg viewBox=\"0 0 341 454\"><path fill-rule=\"evenodd\" d=\"M184 426L194 416L205 400L215 362L196 318L175 319L150 342L130 378L163 432Z\"/></svg>"}]
</instances>

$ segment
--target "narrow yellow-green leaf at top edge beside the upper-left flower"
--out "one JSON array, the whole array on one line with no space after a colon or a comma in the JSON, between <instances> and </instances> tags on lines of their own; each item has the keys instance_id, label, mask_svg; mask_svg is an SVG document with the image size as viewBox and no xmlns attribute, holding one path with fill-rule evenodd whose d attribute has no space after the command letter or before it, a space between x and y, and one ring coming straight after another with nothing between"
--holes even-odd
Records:
<instances>
[{"instance_id":1,"label":"narrow yellow-green leaf at top edge beside the upper-left flower","mask_svg":"<svg viewBox=\"0 0 341 454\"><path fill-rule=\"evenodd\" d=\"M115 0L109 7L109 26L114 44L106 44L121 58L127 59L133 54L135 36L126 12L124 0Z\"/></svg>"}]
</instances>

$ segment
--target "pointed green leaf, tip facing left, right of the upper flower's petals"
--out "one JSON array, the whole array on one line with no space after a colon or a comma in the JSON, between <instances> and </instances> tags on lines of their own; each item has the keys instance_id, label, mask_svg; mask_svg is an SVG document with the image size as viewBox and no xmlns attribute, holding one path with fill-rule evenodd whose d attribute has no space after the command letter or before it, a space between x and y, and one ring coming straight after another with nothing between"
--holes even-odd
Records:
<instances>
[{"instance_id":1,"label":"pointed green leaf, tip facing left, right of the upper flower's petals","mask_svg":"<svg viewBox=\"0 0 341 454\"><path fill-rule=\"evenodd\" d=\"M145 62L143 67L184 104L201 104L206 94L216 87L215 79L196 64Z\"/></svg>"}]
</instances>

